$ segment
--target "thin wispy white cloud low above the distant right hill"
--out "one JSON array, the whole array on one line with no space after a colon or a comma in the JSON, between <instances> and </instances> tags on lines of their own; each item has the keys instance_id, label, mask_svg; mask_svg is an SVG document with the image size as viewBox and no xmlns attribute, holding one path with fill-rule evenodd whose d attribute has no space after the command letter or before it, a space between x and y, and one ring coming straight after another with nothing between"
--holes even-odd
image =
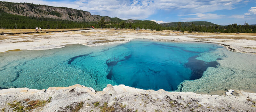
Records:
<instances>
[{"instance_id":1,"label":"thin wispy white cloud low above the distant right hill","mask_svg":"<svg viewBox=\"0 0 256 112\"><path fill-rule=\"evenodd\" d=\"M187 14L187 15L180 15L180 16L196 16L196 17L189 17L189 18L181 18L181 20L209 20L209 19L219 19L224 17L225 15L218 15L212 13L195 13L195 14Z\"/></svg>"}]
</instances>

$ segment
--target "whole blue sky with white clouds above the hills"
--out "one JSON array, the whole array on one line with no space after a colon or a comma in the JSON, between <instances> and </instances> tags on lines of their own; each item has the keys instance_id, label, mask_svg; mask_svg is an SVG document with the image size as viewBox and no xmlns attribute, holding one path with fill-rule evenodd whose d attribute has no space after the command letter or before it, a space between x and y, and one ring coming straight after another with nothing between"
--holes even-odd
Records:
<instances>
[{"instance_id":1,"label":"whole blue sky with white clouds above the hills","mask_svg":"<svg viewBox=\"0 0 256 112\"><path fill-rule=\"evenodd\" d=\"M256 24L256 0L2 0L69 7L123 20Z\"/></svg>"}]
</instances>

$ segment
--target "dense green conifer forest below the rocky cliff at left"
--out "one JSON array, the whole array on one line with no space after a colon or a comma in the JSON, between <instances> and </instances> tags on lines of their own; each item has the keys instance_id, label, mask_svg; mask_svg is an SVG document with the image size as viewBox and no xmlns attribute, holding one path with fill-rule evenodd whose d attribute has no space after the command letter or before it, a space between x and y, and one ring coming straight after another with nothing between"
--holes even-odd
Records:
<instances>
[{"instance_id":1,"label":"dense green conifer forest below the rocky cliff at left","mask_svg":"<svg viewBox=\"0 0 256 112\"><path fill-rule=\"evenodd\" d=\"M26 17L19 15L12 15L5 12L0 12L0 28L10 29L34 29L41 27L43 29L56 28L87 28L90 26L97 26L97 22L76 22L69 20L60 20L43 17Z\"/></svg>"}]
</instances>

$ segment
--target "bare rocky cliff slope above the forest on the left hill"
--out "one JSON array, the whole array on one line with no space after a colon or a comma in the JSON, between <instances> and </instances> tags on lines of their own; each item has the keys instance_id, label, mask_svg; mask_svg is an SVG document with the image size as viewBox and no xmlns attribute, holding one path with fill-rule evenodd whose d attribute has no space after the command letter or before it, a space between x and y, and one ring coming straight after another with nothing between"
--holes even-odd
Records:
<instances>
[{"instance_id":1,"label":"bare rocky cliff slope above the forest on the left hill","mask_svg":"<svg viewBox=\"0 0 256 112\"><path fill-rule=\"evenodd\" d=\"M35 18L52 18L60 20L70 20L79 22L99 21L102 16L92 15L90 12L76 10L66 7L53 7L47 5L37 5L30 3L12 3L0 1L0 9L13 15L35 17ZM105 16L106 22L121 22L122 19L110 18Z\"/></svg>"}]
</instances>

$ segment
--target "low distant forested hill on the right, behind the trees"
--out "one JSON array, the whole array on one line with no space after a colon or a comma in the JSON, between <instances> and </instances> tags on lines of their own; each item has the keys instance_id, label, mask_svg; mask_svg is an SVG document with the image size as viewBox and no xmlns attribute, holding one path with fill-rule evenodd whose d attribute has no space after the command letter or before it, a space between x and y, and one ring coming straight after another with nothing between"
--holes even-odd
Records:
<instances>
[{"instance_id":1,"label":"low distant forested hill on the right, behind the trees","mask_svg":"<svg viewBox=\"0 0 256 112\"><path fill-rule=\"evenodd\" d=\"M207 21L192 21L192 22L181 22L181 26L190 26L191 24L194 25L200 25L200 26L216 26L216 24L213 24L211 22L207 22ZM162 23L159 24L162 25L163 27L177 27L178 26L178 22L169 22L169 23Z\"/></svg>"}]
</instances>

